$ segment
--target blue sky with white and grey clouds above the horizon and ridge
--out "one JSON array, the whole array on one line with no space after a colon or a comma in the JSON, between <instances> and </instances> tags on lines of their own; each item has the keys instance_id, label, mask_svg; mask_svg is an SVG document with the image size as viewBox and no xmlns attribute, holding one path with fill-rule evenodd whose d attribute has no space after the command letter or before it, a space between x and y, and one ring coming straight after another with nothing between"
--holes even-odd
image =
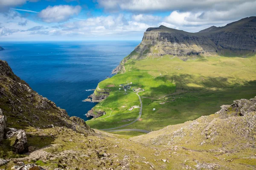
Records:
<instances>
[{"instance_id":1,"label":"blue sky with white and grey clouds above the horizon and ridge","mask_svg":"<svg viewBox=\"0 0 256 170\"><path fill-rule=\"evenodd\" d=\"M189 32L256 16L256 0L0 0L0 41L141 40L148 27Z\"/></svg>"}]
</instances>

